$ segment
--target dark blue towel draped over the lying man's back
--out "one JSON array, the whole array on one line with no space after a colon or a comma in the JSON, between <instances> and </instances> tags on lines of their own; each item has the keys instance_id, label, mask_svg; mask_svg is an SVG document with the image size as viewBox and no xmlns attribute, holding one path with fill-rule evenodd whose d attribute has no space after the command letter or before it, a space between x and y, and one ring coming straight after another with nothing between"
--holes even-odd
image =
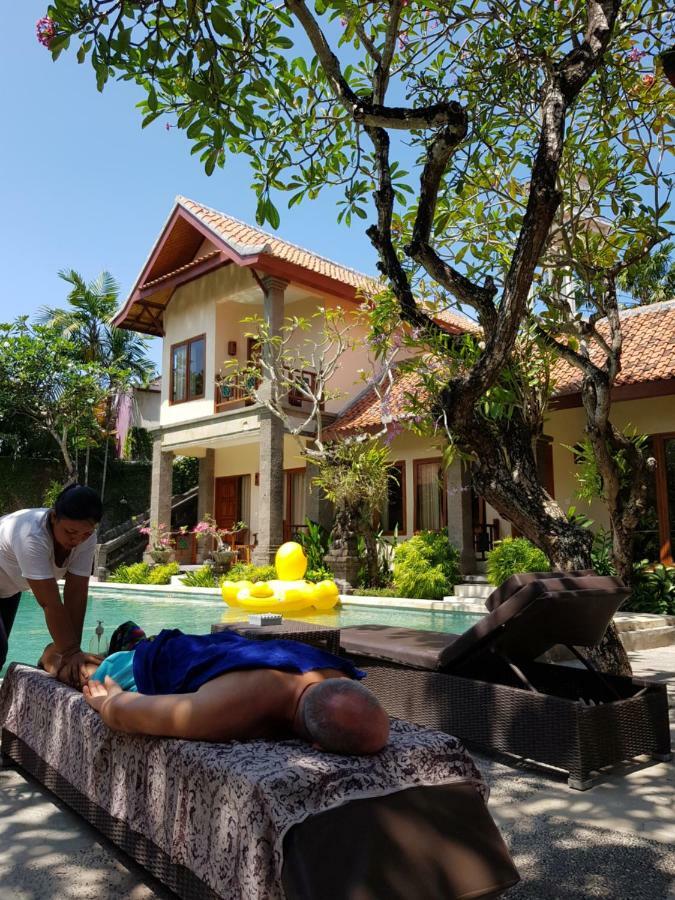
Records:
<instances>
[{"instance_id":1,"label":"dark blue towel draped over the lying man's back","mask_svg":"<svg viewBox=\"0 0 675 900\"><path fill-rule=\"evenodd\" d=\"M207 681L241 669L310 672L338 669L349 678L365 672L339 656L299 641L254 641L234 631L183 634L164 629L134 651L134 678L142 694L188 694Z\"/></svg>"}]
</instances>

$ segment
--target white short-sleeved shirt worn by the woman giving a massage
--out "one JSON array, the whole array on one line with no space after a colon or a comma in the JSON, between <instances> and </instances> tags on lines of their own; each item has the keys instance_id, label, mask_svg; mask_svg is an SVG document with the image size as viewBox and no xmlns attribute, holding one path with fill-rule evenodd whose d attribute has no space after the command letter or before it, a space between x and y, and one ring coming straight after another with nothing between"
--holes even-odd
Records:
<instances>
[{"instance_id":1,"label":"white short-sleeved shirt worn by the woman giving a massage","mask_svg":"<svg viewBox=\"0 0 675 900\"><path fill-rule=\"evenodd\" d=\"M49 509L19 509L0 518L0 598L30 590L28 579L91 575L96 550L96 532L78 544L57 566L54 538L49 527Z\"/></svg>"}]
</instances>

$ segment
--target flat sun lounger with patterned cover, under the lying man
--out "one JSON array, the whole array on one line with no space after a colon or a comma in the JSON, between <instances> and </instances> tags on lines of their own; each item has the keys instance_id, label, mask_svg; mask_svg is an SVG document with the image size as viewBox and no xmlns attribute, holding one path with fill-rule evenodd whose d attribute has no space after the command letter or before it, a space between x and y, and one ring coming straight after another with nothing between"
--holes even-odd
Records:
<instances>
[{"instance_id":1,"label":"flat sun lounger with patterned cover, under the lying man","mask_svg":"<svg viewBox=\"0 0 675 900\"><path fill-rule=\"evenodd\" d=\"M487 900L518 881L480 774L440 732L394 722L373 757L126 735L18 664L0 724L4 754L183 898Z\"/></svg>"}]
</instances>

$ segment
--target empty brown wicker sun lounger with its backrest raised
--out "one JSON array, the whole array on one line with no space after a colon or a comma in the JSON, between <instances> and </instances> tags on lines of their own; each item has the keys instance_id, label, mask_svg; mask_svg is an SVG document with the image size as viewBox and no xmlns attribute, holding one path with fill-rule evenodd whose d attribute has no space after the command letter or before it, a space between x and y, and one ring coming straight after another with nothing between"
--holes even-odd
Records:
<instances>
[{"instance_id":1,"label":"empty brown wicker sun lounger with its backrest raised","mask_svg":"<svg viewBox=\"0 0 675 900\"><path fill-rule=\"evenodd\" d=\"M604 675L579 649L597 646L628 589L550 574L504 585L464 634L358 626L342 629L342 650L391 715L561 768L570 787L641 754L669 759L665 685ZM536 661L556 644L584 668Z\"/></svg>"}]
</instances>

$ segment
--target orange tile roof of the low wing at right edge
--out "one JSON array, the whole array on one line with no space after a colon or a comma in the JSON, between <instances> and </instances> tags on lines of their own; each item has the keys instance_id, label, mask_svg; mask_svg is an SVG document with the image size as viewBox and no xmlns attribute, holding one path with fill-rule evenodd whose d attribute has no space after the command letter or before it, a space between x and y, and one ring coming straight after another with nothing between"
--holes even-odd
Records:
<instances>
[{"instance_id":1,"label":"orange tile roof of the low wing at right edge","mask_svg":"<svg viewBox=\"0 0 675 900\"><path fill-rule=\"evenodd\" d=\"M598 330L606 335L607 323L599 322ZM624 310L621 331L621 371L616 387L675 378L675 300ZM597 344L591 347L591 359L604 359ZM558 397L581 390L581 372L563 360L556 364L553 377Z\"/></svg>"}]
</instances>

